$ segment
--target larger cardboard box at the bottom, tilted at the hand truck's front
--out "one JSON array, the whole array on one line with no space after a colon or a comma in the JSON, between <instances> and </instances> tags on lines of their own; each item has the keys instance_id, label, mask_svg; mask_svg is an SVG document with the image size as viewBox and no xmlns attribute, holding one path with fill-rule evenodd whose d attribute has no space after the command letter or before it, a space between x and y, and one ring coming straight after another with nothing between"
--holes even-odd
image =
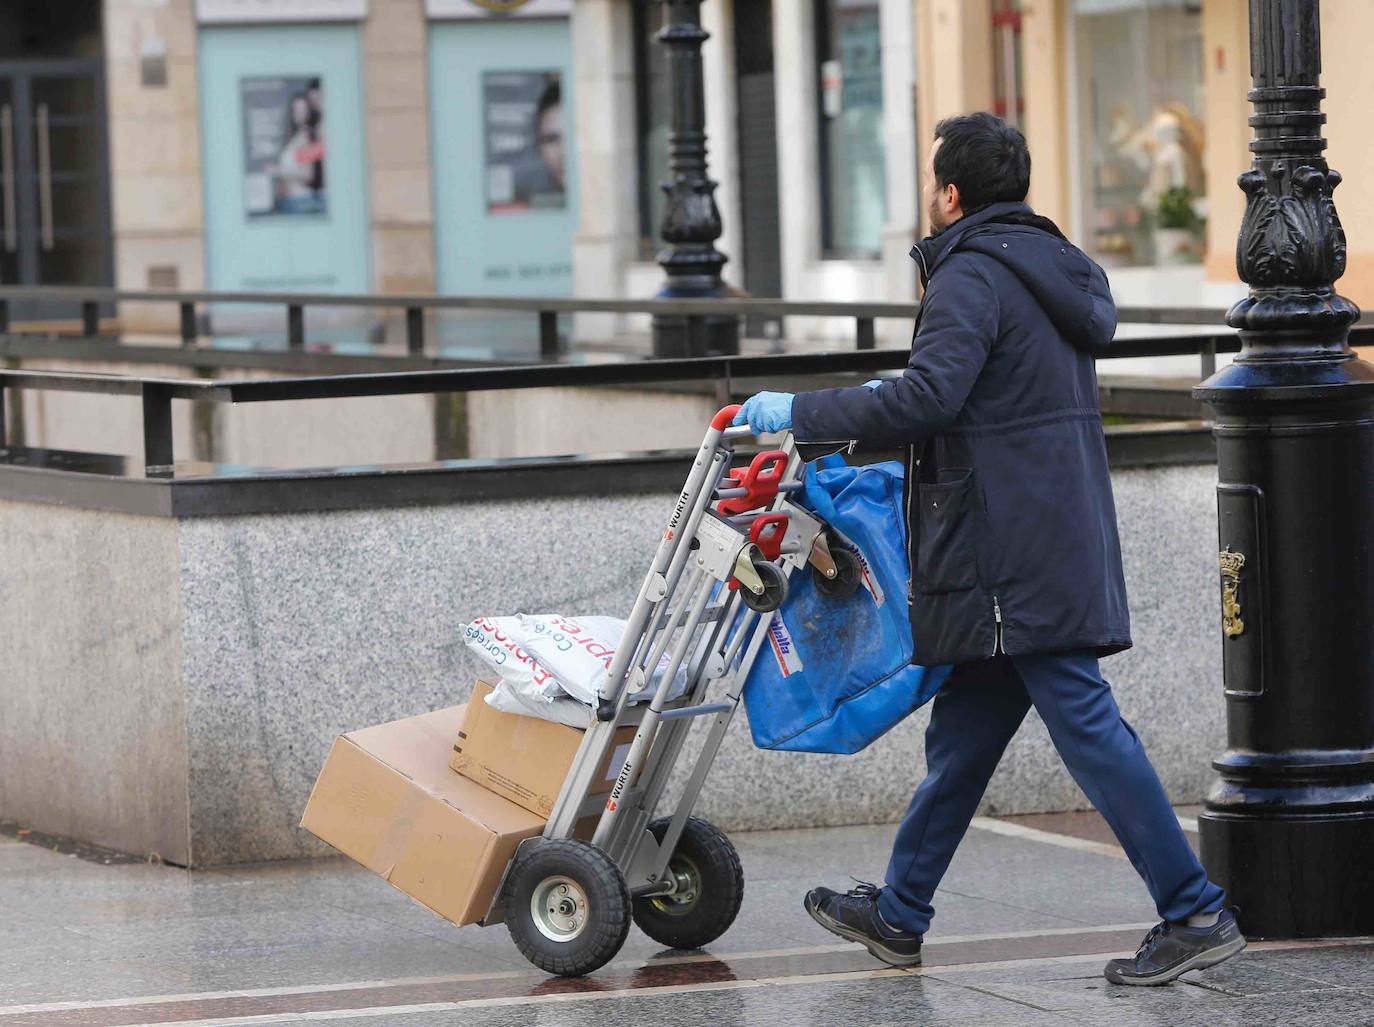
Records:
<instances>
[{"instance_id":1,"label":"larger cardboard box at the bottom, tilted at the hand truck's front","mask_svg":"<svg viewBox=\"0 0 1374 1027\"><path fill-rule=\"evenodd\" d=\"M544 829L541 817L449 770L463 716L452 707L341 736L301 818L459 927L486 916L515 847Z\"/></svg>"}]
</instances>

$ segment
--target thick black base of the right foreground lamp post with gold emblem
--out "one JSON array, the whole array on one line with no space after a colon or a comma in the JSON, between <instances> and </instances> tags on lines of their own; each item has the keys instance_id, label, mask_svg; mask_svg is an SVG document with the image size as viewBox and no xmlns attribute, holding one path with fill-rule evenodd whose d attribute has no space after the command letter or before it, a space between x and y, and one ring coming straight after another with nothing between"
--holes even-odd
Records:
<instances>
[{"instance_id":1,"label":"thick black base of the right foreground lamp post with gold emblem","mask_svg":"<svg viewBox=\"0 0 1374 1027\"><path fill-rule=\"evenodd\" d=\"M1216 411L1230 742L1202 861L1252 936L1367 935L1374 366L1238 362L1194 395Z\"/></svg>"}]
</instances>

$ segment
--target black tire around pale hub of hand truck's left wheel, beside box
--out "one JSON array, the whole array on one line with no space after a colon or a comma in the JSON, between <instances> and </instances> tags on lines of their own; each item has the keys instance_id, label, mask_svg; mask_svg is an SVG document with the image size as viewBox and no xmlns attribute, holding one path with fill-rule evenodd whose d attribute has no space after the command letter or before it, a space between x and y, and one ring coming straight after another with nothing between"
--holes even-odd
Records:
<instances>
[{"instance_id":1,"label":"black tire around pale hub of hand truck's left wheel, beside box","mask_svg":"<svg viewBox=\"0 0 1374 1027\"><path fill-rule=\"evenodd\" d=\"M569 940L545 936L530 901L550 879L567 879L585 895L585 921ZM629 888L614 861L588 841L554 839L518 857L502 892L506 929L526 960L561 978L580 978L616 957L629 934Z\"/></svg>"}]
</instances>

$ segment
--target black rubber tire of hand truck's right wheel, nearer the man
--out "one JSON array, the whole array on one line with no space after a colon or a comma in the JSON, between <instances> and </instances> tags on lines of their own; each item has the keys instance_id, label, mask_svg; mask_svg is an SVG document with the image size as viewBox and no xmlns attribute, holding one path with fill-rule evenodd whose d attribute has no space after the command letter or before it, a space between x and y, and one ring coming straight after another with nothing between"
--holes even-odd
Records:
<instances>
[{"instance_id":1,"label":"black rubber tire of hand truck's right wheel, nearer the man","mask_svg":"<svg viewBox=\"0 0 1374 1027\"><path fill-rule=\"evenodd\" d=\"M654 821L650 833L662 840L668 822L668 817ZM690 861L701 881L695 902L675 910L672 896L640 896L635 899L635 924L669 949L701 949L725 934L739 916L745 872L731 840L699 817L687 818L669 872L684 861Z\"/></svg>"}]
</instances>

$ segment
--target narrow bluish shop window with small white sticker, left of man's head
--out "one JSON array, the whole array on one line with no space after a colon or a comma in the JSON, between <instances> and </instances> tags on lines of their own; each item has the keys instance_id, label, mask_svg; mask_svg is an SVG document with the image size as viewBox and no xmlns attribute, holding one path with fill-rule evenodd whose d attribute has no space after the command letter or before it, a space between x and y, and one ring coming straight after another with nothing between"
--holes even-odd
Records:
<instances>
[{"instance_id":1,"label":"narrow bluish shop window with small white sticker, left of man's head","mask_svg":"<svg viewBox=\"0 0 1374 1027\"><path fill-rule=\"evenodd\" d=\"M888 217L878 0L816 0L822 247L875 258Z\"/></svg>"}]
</instances>

